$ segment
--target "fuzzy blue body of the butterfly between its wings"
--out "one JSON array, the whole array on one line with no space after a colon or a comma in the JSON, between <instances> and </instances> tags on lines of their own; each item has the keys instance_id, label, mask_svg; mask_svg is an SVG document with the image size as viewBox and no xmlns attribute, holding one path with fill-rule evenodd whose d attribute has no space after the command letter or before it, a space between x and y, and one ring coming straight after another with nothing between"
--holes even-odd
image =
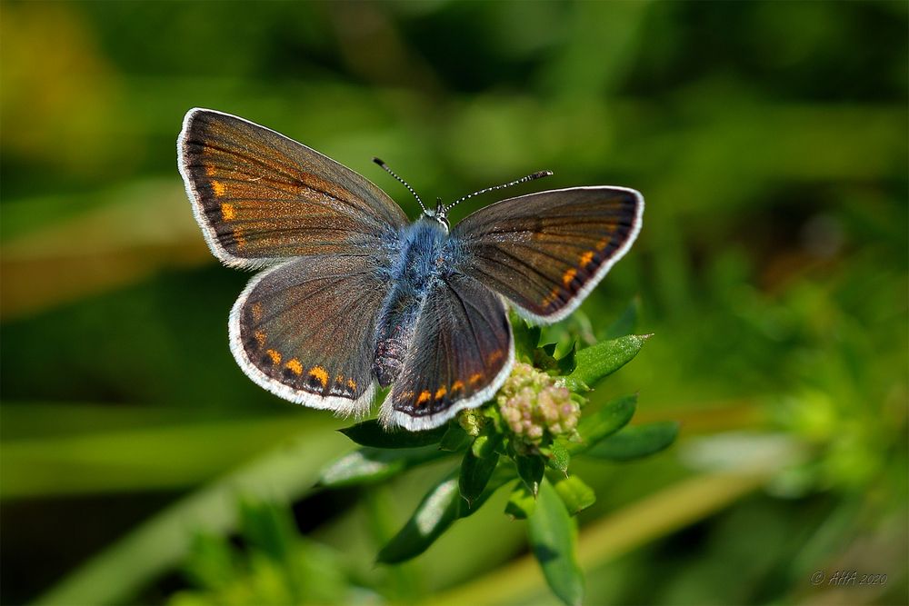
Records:
<instances>
[{"instance_id":1,"label":"fuzzy blue body of the butterfly between its wings","mask_svg":"<svg viewBox=\"0 0 909 606\"><path fill-rule=\"evenodd\" d=\"M401 243L391 268L394 286L376 323L373 372L383 387L401 373L426 295L453 265L445 225L433 218L423 216L405 227Z\"/></svg>"}]
</instances>

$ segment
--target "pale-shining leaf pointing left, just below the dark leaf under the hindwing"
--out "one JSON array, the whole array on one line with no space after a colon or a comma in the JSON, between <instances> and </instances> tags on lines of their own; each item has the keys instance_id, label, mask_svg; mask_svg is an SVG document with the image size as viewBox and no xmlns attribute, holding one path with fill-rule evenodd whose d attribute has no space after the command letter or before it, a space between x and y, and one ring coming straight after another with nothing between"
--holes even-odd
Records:
<instances>
[{"instance_id":1,"label":"pale-shining leaf pointing left, just below the dark leaf under the hindwing","mask_svg":"<svg viewBox=\"0 0 909 606\"><path fill-rule=\"evenodd\" d=\"M380 450L361 448L325 465L319 473L319 485L339 487L381 482L425 462L447 456L436 446Z\"/></svg>"}]
</instances>

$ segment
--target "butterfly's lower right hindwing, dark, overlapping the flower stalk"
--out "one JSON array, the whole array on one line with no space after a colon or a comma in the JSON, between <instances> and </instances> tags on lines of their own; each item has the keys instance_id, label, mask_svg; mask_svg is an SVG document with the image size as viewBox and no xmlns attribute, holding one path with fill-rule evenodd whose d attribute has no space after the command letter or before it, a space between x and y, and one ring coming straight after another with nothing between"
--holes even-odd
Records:
<instances>
[{"instance_id":1,"label":"butterfly's lower right hindwing, dark, overlapping the flower stalk","mask_svg":"<svg viewBox=\"0 0 909 606\"><path fill-rule=\"evenodd\" d=\"M463 273L442 276L426 296L404 369L380 412L386 425L438 427L488 401L514 363L501 297Z\"/></svg>"}]
</instances>

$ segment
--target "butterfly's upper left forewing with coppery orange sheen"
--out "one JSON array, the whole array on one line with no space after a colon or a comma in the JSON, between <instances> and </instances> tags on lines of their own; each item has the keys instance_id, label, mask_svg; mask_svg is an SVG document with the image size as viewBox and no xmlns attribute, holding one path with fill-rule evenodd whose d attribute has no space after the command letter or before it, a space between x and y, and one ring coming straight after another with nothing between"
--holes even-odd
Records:
<instances>
[{"instance_id":1,"label":"butterfly's upper left forewing with coppery orange sheen","mask_svg":"<svg viewBox=\"0 0 909 606\"><path fill-rule=\"evenodd\" d=\"M407 223L361 175L233 115L191 110L177 151L205 239L228 264L371 253L393 245Z\"/></svg>"}]
</instances>

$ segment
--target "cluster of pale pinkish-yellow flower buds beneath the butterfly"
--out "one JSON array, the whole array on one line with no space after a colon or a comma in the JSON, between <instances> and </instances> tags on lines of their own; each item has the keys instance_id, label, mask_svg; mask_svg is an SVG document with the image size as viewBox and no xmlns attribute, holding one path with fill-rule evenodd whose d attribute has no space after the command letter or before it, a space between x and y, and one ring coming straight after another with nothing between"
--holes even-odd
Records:
<instances>
[{"instance_id":1,"label":"cluster of pale pinkish-yellow flower buds beneath the butterfly","mask_svg":"<svg viewBox=\"0 0 909 606\"><path fill-rule=\"evenodd\" d=\"M544 435L573 436L581 407L571 392L530 364L515 363L496 397L509 429L524 442L539 444Z\"/></svg>"}]
</instances>

